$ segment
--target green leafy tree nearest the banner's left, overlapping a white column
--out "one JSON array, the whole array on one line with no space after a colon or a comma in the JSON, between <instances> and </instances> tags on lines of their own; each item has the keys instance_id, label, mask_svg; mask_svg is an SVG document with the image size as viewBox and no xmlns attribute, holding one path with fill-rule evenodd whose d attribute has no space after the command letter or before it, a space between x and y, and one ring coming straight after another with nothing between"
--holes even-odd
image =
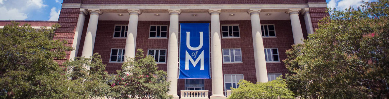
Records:
<instances>
[{"instance_id":1,"label":"green leafy tree nearest the banner's left, overlapping a white column","mask_svg":"<svg viewBox=\"0 0 389 99\"><path fill-rule=\"evenodd\" d=\"M108 96L134 99L171 99L168 95L170 82L166 82L166 72L157 70L154 57L143 56L142 49L137 50L136 58L128 58L117 71Z\"/></svg>"}]
</instances>

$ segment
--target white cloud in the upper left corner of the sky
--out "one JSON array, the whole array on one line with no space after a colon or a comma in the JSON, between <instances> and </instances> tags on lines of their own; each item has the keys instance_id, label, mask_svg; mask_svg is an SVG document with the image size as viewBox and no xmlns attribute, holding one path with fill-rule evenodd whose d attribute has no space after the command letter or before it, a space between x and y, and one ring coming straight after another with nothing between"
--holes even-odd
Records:
<instances>
[{"instance_id":1,"label":"white cloud in the upper left corner of the sky","mask_svg":"<svg viewBox=\"0 0 389 99\"><path fill-rule=\"evenodd\" d=\"M0 0L0 20L25 20L46 6L42 0Z\"/></svg>"}]
</instances>

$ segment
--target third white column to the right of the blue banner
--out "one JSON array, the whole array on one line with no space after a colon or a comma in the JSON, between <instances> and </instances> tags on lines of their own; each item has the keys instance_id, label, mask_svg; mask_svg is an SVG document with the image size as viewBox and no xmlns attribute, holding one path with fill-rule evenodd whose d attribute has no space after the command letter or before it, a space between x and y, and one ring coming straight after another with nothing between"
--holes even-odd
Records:
<instances>
[{"instance_id":1,"label":"third white column to the right of the blue banner","mask_svg":"<svg viewBox=\"0 0 389 99\"><path fill-rule=\"evenodd\" d=\"M301 29L301 23L300 18L298 17L300 9L289 9L287 13L291 17L291 24L292 24L292 32L293 32L293 39L294 44L303 44L304 42L302 39L303 37L303 30Z\"/></svg>"}]
</instances>

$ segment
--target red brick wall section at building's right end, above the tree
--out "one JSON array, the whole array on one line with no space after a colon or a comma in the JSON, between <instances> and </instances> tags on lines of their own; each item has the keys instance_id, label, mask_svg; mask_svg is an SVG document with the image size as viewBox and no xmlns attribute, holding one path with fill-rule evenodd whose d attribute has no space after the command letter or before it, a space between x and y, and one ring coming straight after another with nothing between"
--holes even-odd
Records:
<instances>
[{"instance_id":1,"label":"red brick wall section at building's right end, above the tree","mask_svg":"<svg viewBox=\"0 0 389 99\"><path fill-rule=\"evenodd\" d=\"M327 8L309 8L309 13L311 15L311 21L314 30L319 28L319 26L317 25L319 23L319 20L329 16L329 13L326 11L328 11Z\"/></svg>"}]
</instances>

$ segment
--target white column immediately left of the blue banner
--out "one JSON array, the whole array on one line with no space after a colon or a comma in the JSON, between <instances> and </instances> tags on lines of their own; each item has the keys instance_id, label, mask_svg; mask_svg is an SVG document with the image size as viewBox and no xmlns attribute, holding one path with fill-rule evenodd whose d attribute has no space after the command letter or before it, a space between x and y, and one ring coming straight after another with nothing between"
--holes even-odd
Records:
<instances>
[{"instance_id":1,"label":"white column immediately left of the blue banner","mask_svg":"<svg viewBox=\"0 0 389 99\"><path fill-rule=\"evenodd\" d=\"M169 10L170 26L169 26L169 46L168 46L168 63L167 63L167 80L170 81L169 95L173 95L173 99L179 99L177 95L177 77L178 77L178 21L180 10Z\"/></svg>"}]
</instances>

